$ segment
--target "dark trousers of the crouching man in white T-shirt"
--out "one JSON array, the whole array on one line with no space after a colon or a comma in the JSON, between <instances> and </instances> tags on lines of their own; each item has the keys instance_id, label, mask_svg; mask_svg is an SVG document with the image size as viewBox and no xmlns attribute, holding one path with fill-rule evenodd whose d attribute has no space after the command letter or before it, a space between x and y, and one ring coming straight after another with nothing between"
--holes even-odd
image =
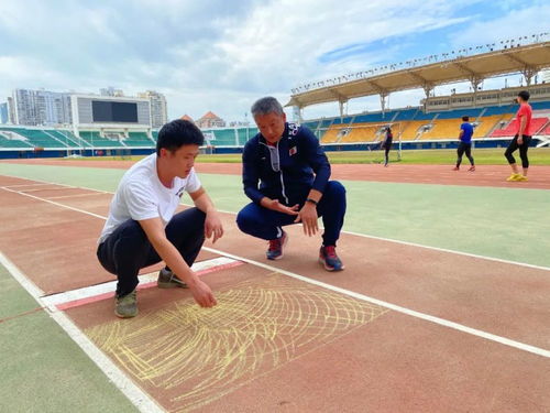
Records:
<instances>
[{"instance_id":1,"label":"dark trousers of the crouching man in white T-shirt","mask_svg":"<svg viewBox=\"0 0 550 413\"><path fill-rule=\"evenodd\" d=\"M166 238L177 248L187 265L191 267L205 242L206 215L198 208L189 208L174 215L166 226ZM117 295L130 294L138 286L138 273L142 268L161 261L140 222L129 219L122 222L98 246L101 265L117 275Z\"/></svg>"}]
</instances>

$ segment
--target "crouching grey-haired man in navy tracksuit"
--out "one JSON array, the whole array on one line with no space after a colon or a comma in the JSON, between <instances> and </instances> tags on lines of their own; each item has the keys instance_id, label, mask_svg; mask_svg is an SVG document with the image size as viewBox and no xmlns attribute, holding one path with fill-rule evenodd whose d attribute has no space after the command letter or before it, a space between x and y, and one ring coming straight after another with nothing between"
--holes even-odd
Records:
<instances>
[{"instance_id":1,"label":"crouching grey-haired man in navy tracksuit","mask_svg":"<svg viewBox=\"0 0 550 413\"><path fill-rule=\"evenodd\" d=\"M244 145L243 185L252 203L237 216L239 228L268 240L267 259L278 260L288 239L282 227L301 221L304 232L314 236L320 216L324 233L319 261L328 271L343 270L336 244L345 215L345 188L329 181L330 164L319 140L309 129L287 123L275 98L257 100L251 111L260 133Z\"/></svg>"}]
</instances>

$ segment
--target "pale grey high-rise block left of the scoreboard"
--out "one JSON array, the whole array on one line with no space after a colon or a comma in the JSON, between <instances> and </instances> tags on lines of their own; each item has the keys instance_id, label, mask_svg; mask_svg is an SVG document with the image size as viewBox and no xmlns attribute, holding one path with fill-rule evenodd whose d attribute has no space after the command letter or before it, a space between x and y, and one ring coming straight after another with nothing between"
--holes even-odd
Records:
<instances>
[{"instance_id":1,"label":"pale grey high-rise block left of the scoreboard","mask_svg":"<svg viewBox=\"0 0 550 413\"><path fill-rule=\"evenodd\" d=\"M48 90L13 90L14 123L68 124L72 123L70 94Z\"/></svg>"}]
</instances>

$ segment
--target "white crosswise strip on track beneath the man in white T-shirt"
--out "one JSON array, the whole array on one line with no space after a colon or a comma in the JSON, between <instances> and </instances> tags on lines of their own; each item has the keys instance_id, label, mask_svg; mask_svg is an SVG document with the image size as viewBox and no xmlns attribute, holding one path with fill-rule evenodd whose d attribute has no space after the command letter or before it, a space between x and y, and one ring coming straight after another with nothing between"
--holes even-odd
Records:
<instances>
[{"instance_id":1,"label":"white crosswise strip on track beneath the man in white T-shirt","mask_svg":"<svg viewBox=\"0 0 550 413\"><path fill-rule=\"evenodd\" d=\"M217 257L206 261L199 261L193 264L193 270L200 273L206 270L220 268L227 264L232 264L237 262L231 258ZM114 276L114 275L113 275ZM155 282L158 276L158 272L152 272L148 274L140 275L140 284ZM42 297L42 301L51 311L56 311L56 306L59 304L65 304L74 301L85 300L102 295L106 293L113 293L117 290L117 281L109 281L106 283L85 286L77 290L65 291L63 293L52 294Z\"/></svg>"}]
</instances>

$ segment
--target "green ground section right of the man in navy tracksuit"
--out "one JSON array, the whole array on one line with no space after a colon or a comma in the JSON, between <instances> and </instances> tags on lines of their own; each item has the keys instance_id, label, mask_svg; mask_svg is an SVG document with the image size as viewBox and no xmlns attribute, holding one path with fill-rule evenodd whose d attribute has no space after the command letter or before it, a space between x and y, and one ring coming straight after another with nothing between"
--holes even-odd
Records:
<instances>
[{"instance_id":1,"label":"green ground section right of the man in navy tracksuit","mask_svg":"<svg viewBox=\"0 0 550 413\"><path fill-rule=\"evenodd\" d=\"M550 268L548 191L356 181L345 186L344 228L351 231Z\"/></svg>"}]
</instances>

